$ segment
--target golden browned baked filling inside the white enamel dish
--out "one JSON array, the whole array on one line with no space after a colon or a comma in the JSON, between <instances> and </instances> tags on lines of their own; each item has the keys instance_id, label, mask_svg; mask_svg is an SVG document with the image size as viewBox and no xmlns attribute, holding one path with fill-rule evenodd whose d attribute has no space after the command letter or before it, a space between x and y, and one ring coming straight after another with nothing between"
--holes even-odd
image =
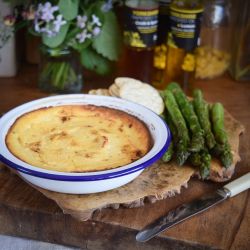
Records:
<instances>
[{"instance_id":1,"label":"golden browned baked filling inside the white enamel dish","mask_svg":"<svg viewBox=\"0 0 250 250\"><path fill-rule=\"evenodd\" d=\"M138 118L94 105L48 107L19 117L8 149L33 166L61 172L117 168L144 156L151 136Z\"/></svg>"}]
</instances>

